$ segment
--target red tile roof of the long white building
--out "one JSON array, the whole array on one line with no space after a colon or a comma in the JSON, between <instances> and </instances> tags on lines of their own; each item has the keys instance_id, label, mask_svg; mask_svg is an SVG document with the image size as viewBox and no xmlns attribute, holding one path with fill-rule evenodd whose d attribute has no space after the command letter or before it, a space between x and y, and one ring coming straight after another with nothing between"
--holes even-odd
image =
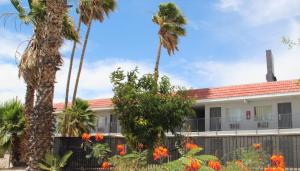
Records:
<instances>
[{"instance_id":1,"label":"red tile roof of the long white building","mask_svg":"<svg viewBox=\"0 0 300 171\"><path fill-rule=\"evenodd\" d=\"M264 82L255 84L189 90L189 94L192 97L199 100L283 94L294 92L300 92L300 84L298 84L298 80ZM111 99L89 100L89 104L90 107L93 109L112 107ZM63 110L63 106L64 103L54 104L54 108L56 111Z\"/></svg>"}]
</instances>

